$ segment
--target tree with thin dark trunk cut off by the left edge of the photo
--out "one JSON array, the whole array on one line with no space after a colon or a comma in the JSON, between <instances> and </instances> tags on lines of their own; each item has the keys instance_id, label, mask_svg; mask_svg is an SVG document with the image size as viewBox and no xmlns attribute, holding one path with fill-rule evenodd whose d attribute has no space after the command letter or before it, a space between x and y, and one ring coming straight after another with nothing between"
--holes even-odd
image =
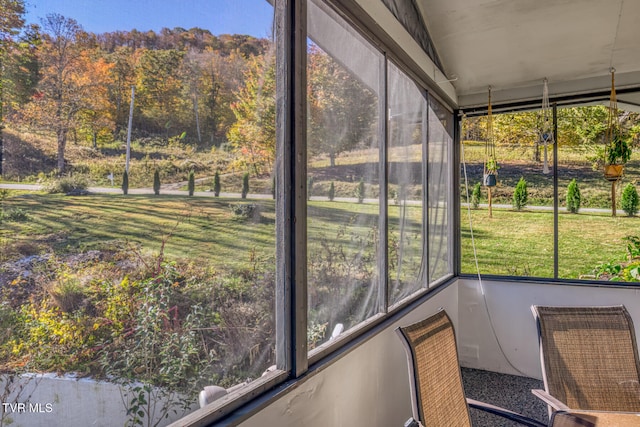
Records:
<instances>
[{"instance_id":1,"label":"tree with thin dark trunk cut off by the left edge of the photo","mask_svg":"<svg viewBox=\"0 0 640 427\"><path fill-rule=\"evenodd\" d=\"M24 1L0 0L0 176L4 154L4 140L2 136L4 128L4 64L9 46L13 43L13 37L24 25Z\"/></svg>"}]
</instances>

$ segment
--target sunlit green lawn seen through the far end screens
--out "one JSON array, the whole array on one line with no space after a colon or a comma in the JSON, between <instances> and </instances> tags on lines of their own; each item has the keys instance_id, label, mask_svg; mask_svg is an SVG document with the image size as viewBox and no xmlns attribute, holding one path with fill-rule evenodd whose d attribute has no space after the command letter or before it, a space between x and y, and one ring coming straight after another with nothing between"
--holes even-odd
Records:
<instances>
[{"instance_id":1,"label":"sunlit green lawn seen through the far end screens","mask_svg":"<svg viewBox=\"0 0 640 427\"><path fill-rule=\"evenodd\" d=\"M553 277L553 212L471 210L481 274ZM577 279L596 266L626 257L623 238L638 235L640 219L610 213L560 213L558 276ZM469 216L461 212L462 272L476 274Z\"/></svg>"}]
</instances>

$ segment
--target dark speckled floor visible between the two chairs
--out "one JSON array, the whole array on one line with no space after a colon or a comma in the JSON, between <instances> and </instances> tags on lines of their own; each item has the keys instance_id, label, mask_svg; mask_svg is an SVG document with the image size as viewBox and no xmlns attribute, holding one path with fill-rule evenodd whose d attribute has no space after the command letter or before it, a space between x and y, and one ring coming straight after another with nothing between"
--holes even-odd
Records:
<instances>
[{"instance_id":1,"label":"dark speckled floor visible between the two chairs","mask_svg":"<svg viewBox=\"0 0 640 427\"><path fill-rule=\"evenodd\" d=\"M547 406L531 394L533 388L544 388L542 381L468 368L462 368L462 380L465 394L471 399L502 406L542 422L548 421ZM471 409L471 421L474 427L519 425L477 409Z\"/></svg>"}]
</instances>

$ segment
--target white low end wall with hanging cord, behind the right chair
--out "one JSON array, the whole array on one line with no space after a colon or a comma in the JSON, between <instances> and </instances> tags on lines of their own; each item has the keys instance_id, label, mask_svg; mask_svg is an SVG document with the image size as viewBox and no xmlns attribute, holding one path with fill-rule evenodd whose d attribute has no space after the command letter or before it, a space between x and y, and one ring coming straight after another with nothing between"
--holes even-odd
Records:
<instances>
[{"instance_id":1,"label":"white low end wall with hanging cord, behind the right chair","mask_svg":"<svg viewBox=\"0 0 640 427\"><path fill-rule=\"evenodd\" d=\"M460 364L542 379L532 305L623 304L640 330L640 289L458 280Z\"/></svg>"}]
</instances>

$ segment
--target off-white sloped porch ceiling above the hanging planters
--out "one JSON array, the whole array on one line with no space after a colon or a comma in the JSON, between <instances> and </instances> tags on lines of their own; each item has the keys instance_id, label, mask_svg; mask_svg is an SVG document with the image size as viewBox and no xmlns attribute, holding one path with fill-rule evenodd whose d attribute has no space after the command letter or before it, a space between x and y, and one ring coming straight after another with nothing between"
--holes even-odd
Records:
<instances>
[{"instance_id":1,"label":"off-white sloped porch ceiling above the hanging planters","mask_svg":"<svg viewBox=\"0 0 640 427\"><path fill-rule=\"evenodd\" d=\"M460 107L640 90L639 0L415 0ZM618 102L640 106L640 95ZM621 105L622 106L622 105Z\"/></svg>"}]
</instances>

